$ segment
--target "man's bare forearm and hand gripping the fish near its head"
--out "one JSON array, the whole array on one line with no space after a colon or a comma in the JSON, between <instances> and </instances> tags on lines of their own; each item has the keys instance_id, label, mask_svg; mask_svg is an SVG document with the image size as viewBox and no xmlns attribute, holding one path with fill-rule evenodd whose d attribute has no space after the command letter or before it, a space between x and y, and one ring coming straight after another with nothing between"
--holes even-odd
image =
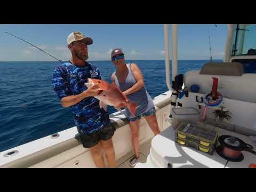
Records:
<instances>
[{"instance_id":1,"label":"man's bare forearm and hand gripping the fish near its head","mask_svg":"<svg viewBox=\"0 0 256 192\"><path fill-rule=\"evenodd\" d=\"M80 94L64 97L60 100L61 105L63 107L70 107L70 106L76 105L76 103L82 101L86 97L93 97L95 95L98 95L99 94L99 90L97 90L98 88L99 88L98 84L95 84Z\"/></svg>"}]
</instances>

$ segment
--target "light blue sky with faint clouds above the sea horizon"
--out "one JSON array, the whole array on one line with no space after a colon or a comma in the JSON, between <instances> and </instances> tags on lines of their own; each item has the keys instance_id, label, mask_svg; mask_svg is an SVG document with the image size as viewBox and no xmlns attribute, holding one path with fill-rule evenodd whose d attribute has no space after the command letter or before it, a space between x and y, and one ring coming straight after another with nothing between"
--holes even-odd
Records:
<instances>
[{"instance_id":1,"label":"light blue sky with faint clouds above the sea horizon","mask_svg":"<svg viewBox=\"0 0 256 192\"><path fill-rule=\"evenodd\" d=\"M178 59L210 59L209 35L213 59L223 59L227 25L178 25ZM88 46L89 61L110 60L110 52L121 48L126 60L164 60L164 26L162 24L19 24L0 25L0 61L55 61L49 55L5 31L67 61L70 51L67 37L81 31L93 39ZM171 25L169 25L171 59Z\"/></svg>"}]
</instances>

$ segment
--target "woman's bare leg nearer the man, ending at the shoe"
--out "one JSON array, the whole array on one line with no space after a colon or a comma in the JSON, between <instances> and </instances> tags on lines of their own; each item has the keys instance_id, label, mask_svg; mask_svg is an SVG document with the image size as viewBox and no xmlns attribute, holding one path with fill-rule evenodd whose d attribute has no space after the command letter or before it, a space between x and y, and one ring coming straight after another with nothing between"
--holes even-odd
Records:
<instances>
[{"instance_id":1,"label":"woman's bare leg nearer the man, ending at the shoe","mask_svg":"<svg viewBox=\"0 0 256 192\"><path fill-rule=\"evenodd\" d=\"M134 153L139 157L139 130L140 130L140 119L129 122L131 128L132 146Z\"/></svg>"}]
</instances>

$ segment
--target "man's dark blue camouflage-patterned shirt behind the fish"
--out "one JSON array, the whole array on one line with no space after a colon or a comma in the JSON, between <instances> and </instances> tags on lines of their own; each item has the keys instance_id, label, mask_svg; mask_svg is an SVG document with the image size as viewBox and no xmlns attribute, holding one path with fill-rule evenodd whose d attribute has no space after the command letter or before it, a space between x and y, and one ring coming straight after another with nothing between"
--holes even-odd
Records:
<instances>
[{"instance_id":1,"label":"man's dark blue camouflage-patterned shirt behind the fish","mask_svg":"<svg viewBox=\"0 0 256 192\"><path fill-rule=\"evenodd\" d=\"M75 66L70 62L63 63L54 70L53 90L60 100L69 95L80 94L87 89L84 85L87 78L101 79L96 66L87 62L84 67ZM110 123L108 113L99 107L99 100L94 97L87 97L70 108L79 133L89 134Z\"/></svg>"}]
</instances>

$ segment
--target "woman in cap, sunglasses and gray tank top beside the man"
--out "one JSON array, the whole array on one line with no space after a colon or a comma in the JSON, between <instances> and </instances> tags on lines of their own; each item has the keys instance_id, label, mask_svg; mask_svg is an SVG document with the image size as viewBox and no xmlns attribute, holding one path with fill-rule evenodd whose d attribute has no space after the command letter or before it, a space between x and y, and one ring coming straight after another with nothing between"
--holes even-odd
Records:
<instances>
[{"instance_id":1,"label":"woman in cap, sunglasses and gray tank top beside the man","mask_svg":"<svg viewBox=\"0 0 256 192\"><path fill-rule=\"evenodd\" d=\"M141 115L145 117L154 134L160 133L156 119L156 110L150 95L145 89L140 68L135 63L126 64L124 53L121 49L111 52L111 61L116 66L116 71L111 75L113 84L119 86L127 98L137 103L136 114L132 116L129 109L125 108L125 116L129 121L132 133L132 145L135 155L130 159L130 165L135 166L139 154L139 128Z\"/></svg>"}]
</instances>

